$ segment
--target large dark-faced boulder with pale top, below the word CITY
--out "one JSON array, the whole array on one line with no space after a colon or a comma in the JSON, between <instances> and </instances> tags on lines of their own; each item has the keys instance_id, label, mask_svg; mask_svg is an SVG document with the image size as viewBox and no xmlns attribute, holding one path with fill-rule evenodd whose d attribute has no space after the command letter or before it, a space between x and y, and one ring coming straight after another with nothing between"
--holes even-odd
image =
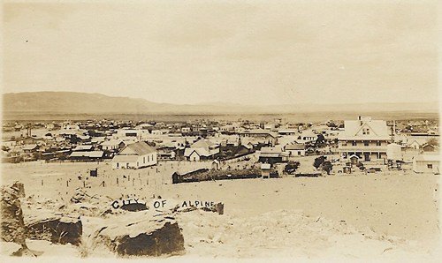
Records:
<instances>
[{"instance_id":1,"label":"large dark-faced boulder with pale top, below the word CITY","mask_svg":"<svg viewBox=\"0 0 442 263\"><path fill-rule=\"evenodd\" d=\"M170 216L151 211L111 217L95 232L95 245L104 244L120 256L160 256L184 252L184 237Z\"/></svg>"}]
</instances>

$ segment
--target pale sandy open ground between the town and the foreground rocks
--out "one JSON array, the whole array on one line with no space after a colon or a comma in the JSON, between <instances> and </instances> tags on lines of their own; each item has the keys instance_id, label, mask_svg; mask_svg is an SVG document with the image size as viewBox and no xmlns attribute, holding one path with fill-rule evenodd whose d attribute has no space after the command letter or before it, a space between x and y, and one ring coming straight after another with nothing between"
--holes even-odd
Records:
<instances>
[{"instance_id":1,"label":"pale sandy open ground between the town and the foreground rocks","mask_svg":"<svg viewBox=\"0 0 442 263\"><path fill-rule=\"evenodd\" d=\"M179 214L186 253L163 260L438 262L439 176L396 171L171 184L174 171L202 167L210 168L210 162L162 162L139 170L112 170L105 162L4 164L2 184L20 181L27 199L66 206L77 188L105 197L103 207L116 199L152 202L158 196L168 206L195 200L225 204L223 215ZM89 177L95 168L98 177ZM34 208L24 213L38 213ZM82 222L84 235L99 225L88 216ZM79 255L70 245L30 240L28 246L45 251L45 262ZM115 258L98 250L89 256Z\"/></svg>"}]
</instances>

